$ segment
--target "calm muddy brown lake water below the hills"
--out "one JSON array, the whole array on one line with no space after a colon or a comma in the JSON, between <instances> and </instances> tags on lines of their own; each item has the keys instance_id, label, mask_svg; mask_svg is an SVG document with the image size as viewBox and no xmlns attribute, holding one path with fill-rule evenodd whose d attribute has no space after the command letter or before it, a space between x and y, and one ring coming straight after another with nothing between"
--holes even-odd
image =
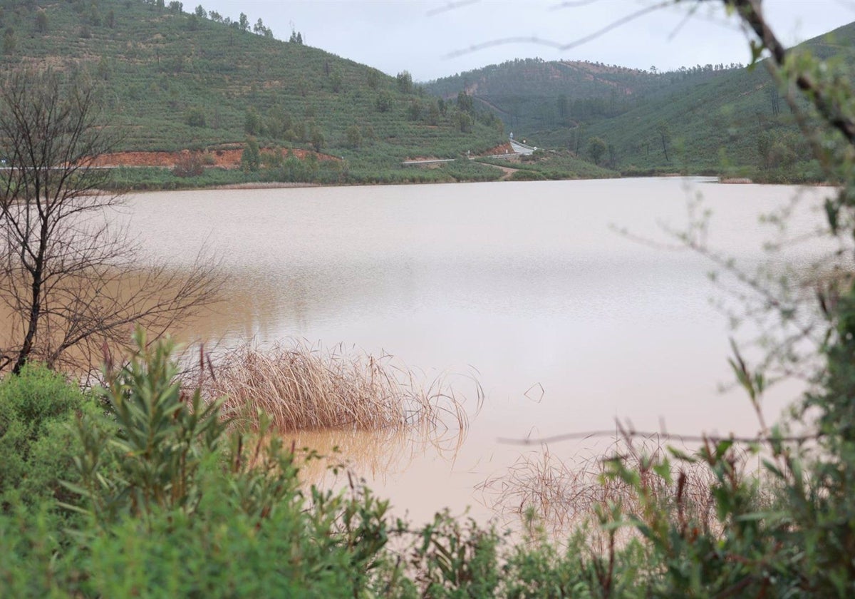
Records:
<instances>
[{"instance_id":1,"label":"calm muddy brown lake water below the hills","mask_svg":"<svg viewBox=\"0 0 855 599\"><path fill-rule=\"evenodd\" d=\"M133 195L128 216L146 250L176 266L202 246L221 257L227 301L190 337L391 353L425 380L445 376L472 412L477 380L485 400L459 448L369 433L294 437L341 446L397 513L422 521L469 506L486 520L494 514L478 483L539 451L502 437L609 430L616 418L639 430L755 433L745 395L719 390L732 378L733 333L711 305L722 299L712 265L663 248L675 242L663 226L685 228L700 194L710 246L751 265L765 257L760 240L775 237L759 215L799 196L793 228L811 230L828 193L678 178L206 190ZM775 259L801 264L817 252L796 246ZM773 389L768 418L799 391Z\"/></svg>"}]
</instances>

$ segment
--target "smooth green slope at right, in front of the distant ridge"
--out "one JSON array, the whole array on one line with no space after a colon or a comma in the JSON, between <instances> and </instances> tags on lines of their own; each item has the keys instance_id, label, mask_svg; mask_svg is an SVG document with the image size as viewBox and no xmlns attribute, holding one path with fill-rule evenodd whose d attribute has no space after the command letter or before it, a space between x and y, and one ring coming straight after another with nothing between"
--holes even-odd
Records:
<instances>
[{"instance_id":1,"label":"smooth green slope at right, in front of the distant ridge","mask_svg":"<svg viewBox=\"0 0 855 599\"><path fill-rule=\"evenodd\" d=\"M826 76L847 77L855 58L855 24L800 44L796 55L828 60ZM811 126L808 104L787 104L763 62L722 73L658 98L625 114L591 122L588 136L614 146L624 172L713 172L767 181L823 177L799 126ZM543 144L568 145L578 132L541 131ZM667 156L666 156L667 154Z\"/></svg>"}]
</instances>

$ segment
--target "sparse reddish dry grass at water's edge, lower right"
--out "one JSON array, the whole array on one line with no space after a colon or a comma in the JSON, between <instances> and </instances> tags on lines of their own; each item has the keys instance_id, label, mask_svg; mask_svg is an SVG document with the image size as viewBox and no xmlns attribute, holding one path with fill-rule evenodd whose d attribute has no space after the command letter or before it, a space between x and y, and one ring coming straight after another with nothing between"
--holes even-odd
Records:
<instances>
[{"instance_id":1,"label":"sparse reddish dry grass at water's edge, lower right","mask_svg":"<svg viewBox=\"0 0 855 599\"><path fill-rule=\"evenodd\" d=\"M607 462L621 456L628 467L640 473L641 485L663 505L673 504L681 518L705 523L709 527L715 513L711 495L714 476L700 463L672 464L679 483L668 485L654 473L650 464L663 457L665 448L655 439L632 444L625 439L613 442L598 453L577 454L562 460L548 446L522 454L508 471L488 478L479 485L484 502L498 514L528 517L534 515L553 535L574 530L587 520L596 520L598 507L620 502L624 513L640 512L640 498L628 483L605 476ZM677 504L679 503L679 506Z\"/></svg>"}]
</instances>

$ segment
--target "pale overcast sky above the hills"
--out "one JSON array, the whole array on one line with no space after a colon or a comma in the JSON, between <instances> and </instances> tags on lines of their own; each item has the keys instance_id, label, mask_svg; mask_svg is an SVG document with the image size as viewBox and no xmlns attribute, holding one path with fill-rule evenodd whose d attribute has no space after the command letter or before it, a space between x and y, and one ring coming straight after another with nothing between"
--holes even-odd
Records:
<instances>
[{"instance_id":1,"label":"pale overcast sky above the hills","mask_svg":"<svg viewBox=\"0 0 855 599\"><path fill-rule=\"evenodd\" d=\"M567 50L522 42L468 49L521 37L568 44L669 0L185 0L184 8L198 3L233 20L241 12L252 24L261 18L278 39L293 27L306 44L421 81L534 56L660 70L749 56L745 34L719 2L651 10ZM764 7L787 44L855 21L855 0L765 0Z\"/></svg>"}]
</instances>

